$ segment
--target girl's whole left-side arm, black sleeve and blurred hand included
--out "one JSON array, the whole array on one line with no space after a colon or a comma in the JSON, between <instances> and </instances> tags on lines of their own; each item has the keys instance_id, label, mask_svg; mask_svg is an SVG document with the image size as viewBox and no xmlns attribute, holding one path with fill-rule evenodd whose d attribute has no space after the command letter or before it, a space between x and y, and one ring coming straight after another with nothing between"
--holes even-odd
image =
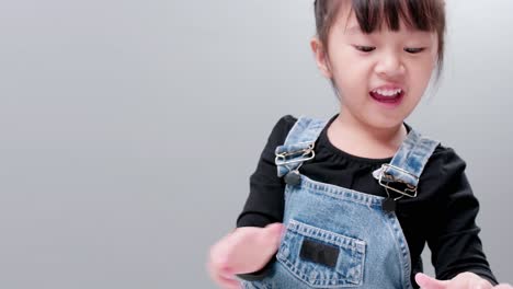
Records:
<instances>
[{"instance_id":1,"label":"girl's whole left-side arm, black sleeve and blurred hand included","mask_svg":"<svg viewBox=\"0 0 513 289\"><path fill-rule=\"evenodd\" d=\"M263 279L280 245L284 211L284 186L277 177L274 150L283 144L296 119L282 117L250 177L250 194L237 219L237 229L210 247L207 269L223 288L240 288L235 278Z\"/></svg>"}]
</instances>

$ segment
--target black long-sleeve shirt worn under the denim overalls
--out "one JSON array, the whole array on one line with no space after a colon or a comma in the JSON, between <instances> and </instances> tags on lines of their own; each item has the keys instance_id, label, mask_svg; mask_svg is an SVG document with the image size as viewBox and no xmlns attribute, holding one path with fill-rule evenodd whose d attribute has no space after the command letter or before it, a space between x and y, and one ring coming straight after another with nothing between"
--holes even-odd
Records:
<instances>
[{"instance_id":1,"label":"black long-sleeve shirt worn under the denim overalls","mask_svg":"<svg viewBox=\"0 0 513 289\"><path fill-rule=\"evenodd\" d=\"M386 197L386 192L372 172L390 159L366 159L351 155L335 148L328 139L327 128L316 142L316 158L305 162L301 174L323 183ZM282 222L284 213L283 178L276 174L275 148L285 142L296 123L293 116L282 117L273 128L255 172L250 177L250 194L237 219L237 227L265 227ZM438 146L430 158L418 186L418 196L398 200L397 217L408 242L412 273L422 271L421 253L428 242L437 279L451 279L459 273L472 271L492 284L497 279L490 270L478 236L476 224L479 203L465 175L466 163L456 152ZM240 275L260 279L266 274L271 259L262 270Z\"/></svg>"}]
</instances>

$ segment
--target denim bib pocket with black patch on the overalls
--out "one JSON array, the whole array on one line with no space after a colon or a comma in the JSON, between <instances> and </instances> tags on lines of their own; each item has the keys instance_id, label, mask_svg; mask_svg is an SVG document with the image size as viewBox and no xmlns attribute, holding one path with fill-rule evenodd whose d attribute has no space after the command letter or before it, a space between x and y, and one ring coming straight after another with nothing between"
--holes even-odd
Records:
<instances>
[{"instance_id":1,"label":"denim bib pocket with black patch on the overalls","mask_svg":"<svg viewBox=\"0 0 513 289\"><path fill-rule=\"evenodd\" d=\"M366 243L294 219L276 254L277 261L311 288L362 285Z\"/></svg>"}]
</instances>

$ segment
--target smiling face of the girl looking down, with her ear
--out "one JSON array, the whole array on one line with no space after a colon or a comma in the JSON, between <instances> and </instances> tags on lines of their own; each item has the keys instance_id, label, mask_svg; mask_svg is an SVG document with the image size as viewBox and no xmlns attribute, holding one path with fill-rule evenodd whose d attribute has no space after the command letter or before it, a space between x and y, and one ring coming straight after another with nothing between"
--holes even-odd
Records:
<instances>
[{"instance_id":1,"label":"smiling face of the girl looking down, with her ear","mask_svg":"<svg viewBox=\"0 0 513 289\"><path fill-rule=\"evenodd\" d=\"M339 89L341 117L374 128L397 127L428 86L437 60L436 33L411 31L401 23L398 32L384 24L380 31L364 34L350 12L342 4L328 53L312 39L319 69Z\"/></svg>"}]
</instances>

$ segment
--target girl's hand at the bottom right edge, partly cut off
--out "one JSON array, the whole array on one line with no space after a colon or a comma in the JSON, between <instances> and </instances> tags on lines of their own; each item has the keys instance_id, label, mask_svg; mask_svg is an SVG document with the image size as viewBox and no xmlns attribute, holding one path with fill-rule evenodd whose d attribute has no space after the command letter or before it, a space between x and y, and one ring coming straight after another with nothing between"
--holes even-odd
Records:
<instances>
[{"instance_id":1,"label":"girl's hand at the bottom right edge, partly cut off","mask_svg":"<svg viewBox=\"0 0 513 289\"><path fill-rule=\"evenodd\" d=\"M415 281L422 289L491 289L493 286L486 279L469 271L458 274L451 280L436 280L425 274L415 275ZM509 287L499 287L508 289Z\"/></svg>"}]
</instances>

